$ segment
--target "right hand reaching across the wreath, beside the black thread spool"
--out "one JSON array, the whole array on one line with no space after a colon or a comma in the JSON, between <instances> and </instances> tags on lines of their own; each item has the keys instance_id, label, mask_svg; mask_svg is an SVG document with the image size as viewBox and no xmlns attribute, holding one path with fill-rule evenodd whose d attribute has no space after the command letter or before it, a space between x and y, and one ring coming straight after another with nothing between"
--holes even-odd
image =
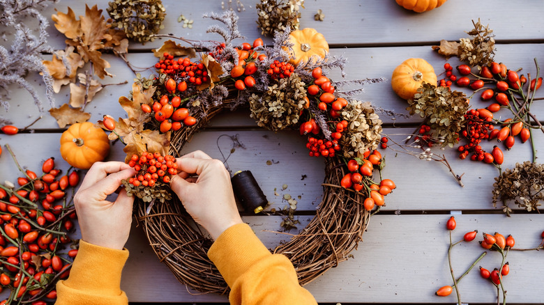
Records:
<instances>
[{"instance_id":1,"label":"right hand reaching across the wreath, beside the black thread spool","mask_svg":"<svg viewBox=\"0 0 544 305\"><path fill-rule=\"evenodd\" d=\"M176 162L179 173L172 177L170 187L192 219L214 240L230 226L242 223L230 175L222 162L200 150L184 155Z\"/></svg>"}]
</instances>

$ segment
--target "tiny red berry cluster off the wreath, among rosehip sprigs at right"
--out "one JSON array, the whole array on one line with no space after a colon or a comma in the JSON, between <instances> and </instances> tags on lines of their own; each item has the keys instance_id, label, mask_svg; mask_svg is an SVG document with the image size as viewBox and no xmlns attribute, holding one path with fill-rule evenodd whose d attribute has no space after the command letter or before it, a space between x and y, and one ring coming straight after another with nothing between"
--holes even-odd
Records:
<instances>
[{"instance_id":1,"label":"tiny red berry cluster off the wreath, among rosehip sprigs at right","mask_svg":"<svg viewBox=\"0 0 544 305\"><path fill-rule=\"evenodd\" d=\"M459 146L459 158L465 159L469 153L473 153L470 157L472 161L484 161L486 153L482 150L480 143L483 139L489 139L489 132L494 129L492 118L485 116L485 111L470 109L467 114L464 114L464 121L467 122L466 127L460 136L462 139L466 139L468 143Z\"/></svg>"}]
</instances>

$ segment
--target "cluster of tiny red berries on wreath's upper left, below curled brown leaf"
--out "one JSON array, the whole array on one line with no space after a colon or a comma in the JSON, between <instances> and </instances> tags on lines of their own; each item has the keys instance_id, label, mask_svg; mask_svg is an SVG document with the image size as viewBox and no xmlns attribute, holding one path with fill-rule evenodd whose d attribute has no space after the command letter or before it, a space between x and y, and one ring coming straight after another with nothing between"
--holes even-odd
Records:
<instances>
[{"instance_id":1,"label":"cluster of tiny red berries on wreath's upper left, below curled brown leaf","mask_svg":"<svg viewBox=\"0 0 544 305\"><path fill-rule=\"evenodd\" d=\"M160 74L169 75L176 79L185 79L191 84L200 85L209 80L208 70L203 63L193 63L189 58L178 58L165 52L163 58L155 64Z\"/></svg>"}]
</instances>

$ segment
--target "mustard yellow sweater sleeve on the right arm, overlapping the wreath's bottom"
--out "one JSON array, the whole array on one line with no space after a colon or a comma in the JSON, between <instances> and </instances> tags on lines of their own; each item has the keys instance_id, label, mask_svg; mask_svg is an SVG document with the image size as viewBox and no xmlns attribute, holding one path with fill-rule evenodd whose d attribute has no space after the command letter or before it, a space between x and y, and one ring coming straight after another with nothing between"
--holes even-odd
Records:
<instances>
[{"instance_id":1,"label":"mustard yellow sweater sleeve on the right arm, overlapping the wreath's bottom","mask_svg":"<svg viewBox=\"0 0 544 305\"><path fill-rule=\"evenodd\" d=\"M230 304L317 304L291 261L270 253L247 224L225 230L208 256L231 288Z\"/></svg>"}]
</instances>

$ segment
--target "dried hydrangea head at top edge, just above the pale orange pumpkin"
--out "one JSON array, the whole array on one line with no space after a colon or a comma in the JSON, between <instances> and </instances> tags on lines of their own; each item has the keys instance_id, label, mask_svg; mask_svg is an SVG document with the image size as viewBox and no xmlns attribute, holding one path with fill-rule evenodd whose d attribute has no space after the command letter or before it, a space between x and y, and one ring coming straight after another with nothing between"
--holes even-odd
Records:
<instances>
[{"instance_id":1,"label":"dried hydrangea head at top edge, just above the pale orange pumpkin","mask_svg":"<svg viewBox=\"0 0 544 305\"><path fill-rule=\"evenodd\" d=\"M304 8L304 0L261 0L257 8L257 26L262 35L273 36L286 29L298 30L301 17L300 8Z\"/></svg>"}]
</instances>

